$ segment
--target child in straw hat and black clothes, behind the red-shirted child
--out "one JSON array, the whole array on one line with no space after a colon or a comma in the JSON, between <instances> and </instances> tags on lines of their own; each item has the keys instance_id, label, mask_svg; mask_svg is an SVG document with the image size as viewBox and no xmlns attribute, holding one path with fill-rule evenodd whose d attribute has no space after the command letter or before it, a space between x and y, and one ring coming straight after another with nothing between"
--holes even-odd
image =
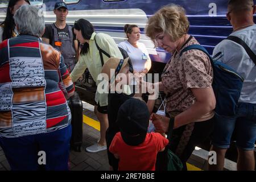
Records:
<instances>
[{"instance_id":1,"label":"child in straw hat and black clothes, behind the red-shirted child","mask_svg":"<svg viewBox=\"0 0 256 182\"><path fill-rule=\"evenodd\" d=\"M108 79L107 81L109 81L110 84L110 93L108 94L109 127L106 131L106 144L109 165L111 167L110 169L113 169L114 171L118 170L118 159L115 159L114 155L109 152L109 146L115 134L120 131L116 123L119 107L126 100L140 96L139 94L134 94L134 92L131 92L129 89L130 87L128 85L131 83L133 78L133 71L131 70L132 65L128 60L129 58L121 60L110 57L109 60L103 65L101 71L101 73L105 73L105 76L107 76ZM111 69L114 74L111 74Z\"/></svg>"}]
</instances>

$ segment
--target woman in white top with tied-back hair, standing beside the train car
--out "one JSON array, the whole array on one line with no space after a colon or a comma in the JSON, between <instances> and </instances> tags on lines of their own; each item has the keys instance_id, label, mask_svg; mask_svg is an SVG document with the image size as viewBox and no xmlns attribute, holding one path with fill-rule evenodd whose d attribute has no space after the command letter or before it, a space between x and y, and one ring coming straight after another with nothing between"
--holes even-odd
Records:
<instances>
[{"instance_id":1,"label":"woman in white top with tied-back hair, standing beside the train car","mask_svg":"<svg viewBox=\"0 0 256 182\"><path fill-rule=\"evenodd\" d=\"M147 73L151 68L151 59L146 46L138 42L141 38L139 27L136 24L126 24L123 29L127 40L119 43L118 47L125 49L128 53L135 73Z\"/></svg>"}]
</instances>

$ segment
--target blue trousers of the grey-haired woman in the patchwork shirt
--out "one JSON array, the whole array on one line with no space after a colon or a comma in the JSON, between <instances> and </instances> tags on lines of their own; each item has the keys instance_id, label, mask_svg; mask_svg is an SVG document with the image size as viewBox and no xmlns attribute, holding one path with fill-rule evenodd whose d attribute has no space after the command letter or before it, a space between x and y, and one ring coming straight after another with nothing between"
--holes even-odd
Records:
<instances>
[{"instance_id":1,"label":"blue trousers of the grey-haired woman in the patchwork shirt","mask_svg":"<svg viewBox=\"0 0 256 182\"><path fill-rule=\"evenodd\" d=\"M18 138L0 138L0 146L14 171L68 170L71 125L51 133L28 135ZM46 152L46 165L38 163Z\"/></svg>"}]
</instances>

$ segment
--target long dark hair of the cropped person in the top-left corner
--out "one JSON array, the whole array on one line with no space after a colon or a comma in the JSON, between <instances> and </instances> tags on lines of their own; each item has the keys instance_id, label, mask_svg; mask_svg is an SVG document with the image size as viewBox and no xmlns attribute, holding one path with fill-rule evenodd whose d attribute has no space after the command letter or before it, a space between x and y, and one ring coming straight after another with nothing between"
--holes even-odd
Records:
<instances>
[{"instance_id":1,"label":"long dark hair of the cropped person in the top-left corner","mask_svg":"<svg viewBox=\"0 0 256 182\"><path fill-rule=\"evenodd\" d=\"M3 40L10 39L11 36L13 36L15 23L14 23L14 19L13 19L13 14L11 14L11 10L16 5L16 3L19 1L20 0L10 0L8 3L5 20L3 21L3 23L1 23L1 25L4 24L3 25ZM28 0L24 0L24 1L26 1L30 5L30 1L28 1Z\"/></svg>"}]
</instances>

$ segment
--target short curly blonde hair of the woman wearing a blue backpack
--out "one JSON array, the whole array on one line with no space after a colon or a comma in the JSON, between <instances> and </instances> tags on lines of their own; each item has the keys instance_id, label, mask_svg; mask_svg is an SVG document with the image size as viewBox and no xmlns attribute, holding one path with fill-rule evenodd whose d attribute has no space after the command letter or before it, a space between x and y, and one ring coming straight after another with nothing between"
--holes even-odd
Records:
<instances>
[{"instance_id":1,"label":"short curly blonde hair of the woman wearing a blue backpack","mask_svg":"<svg viewBox=\"0 0 256 182\"><path fill-rule=\"evenodd\" d=\"M158 10L148 19L146 35L156 46L155 35L164 32L175 42L188 33L189 22L185 9L179 5L167 5Z\"/></svg>"}]
</instances>

